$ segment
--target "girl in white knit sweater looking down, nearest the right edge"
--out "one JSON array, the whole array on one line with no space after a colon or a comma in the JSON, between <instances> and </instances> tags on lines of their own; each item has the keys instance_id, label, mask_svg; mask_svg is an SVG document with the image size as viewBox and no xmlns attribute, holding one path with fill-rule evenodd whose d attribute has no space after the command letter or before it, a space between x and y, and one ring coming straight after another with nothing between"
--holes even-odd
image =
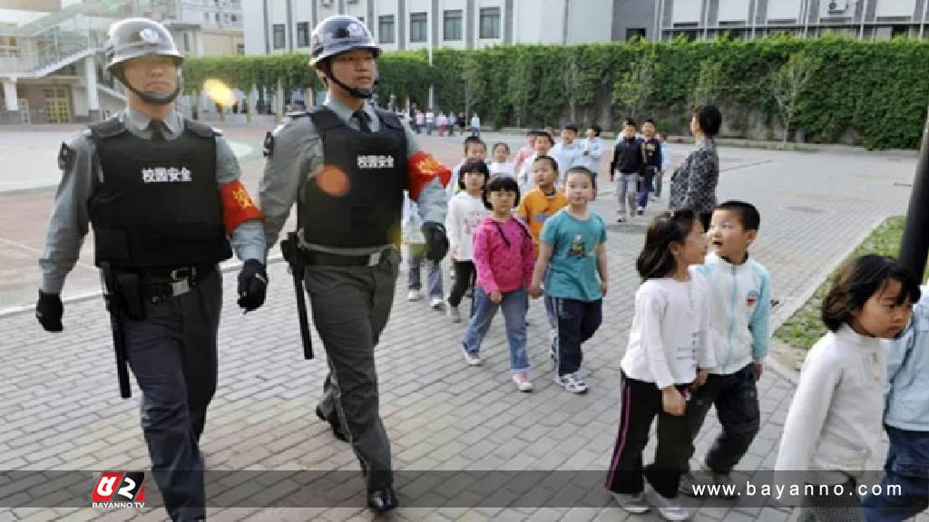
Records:
<instances>
[{"instance_id":1,"label":"girl in white knit sweater looking down, nearest the right edge","mask_svg":"<svg viewBox=\"0 0 929 522\"><path fill-rule=\"evenodd\" d=\"M850 493L883 462L882 339L903 332L919 297L918 282L883 255L851 260L832 282L822 304L830 332L806 354L774 466L790 500L803 496L800 520L864 520Z\"/></svg>"}]
</instances>

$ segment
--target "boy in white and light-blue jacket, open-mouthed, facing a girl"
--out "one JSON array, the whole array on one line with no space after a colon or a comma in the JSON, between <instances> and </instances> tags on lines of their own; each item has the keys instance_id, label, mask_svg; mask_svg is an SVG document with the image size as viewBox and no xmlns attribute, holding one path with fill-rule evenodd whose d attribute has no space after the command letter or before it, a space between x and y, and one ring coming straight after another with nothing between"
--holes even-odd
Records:
<instances>
[{"instance_id":1,"label":"boy in white and light-blue jacket, open-mouthed, facing a girl","mask_svg":"<svg viewBox=\"0 0 929 522\"><path fill-rule=\"evenodd\" d=\"M723 430L700 462L703 473L687 474L682 480L681 492L685 494L695 494L698 482L732 484L729 472L758 433L761 411L755 381L761 377L767 354L771 315L767 270L748 253L760 224L761 215L752 203L728 201L713 210L707 233L712 252L697 270L711 288L709 339L716 366L706 384L694 392L687 408L687 424L690 439L696 439L706 414L715 405ZM692 456L693 444L690 448ZM717 490L721 496L736 494L731 489Z\"/></svg>"}]
</instances>

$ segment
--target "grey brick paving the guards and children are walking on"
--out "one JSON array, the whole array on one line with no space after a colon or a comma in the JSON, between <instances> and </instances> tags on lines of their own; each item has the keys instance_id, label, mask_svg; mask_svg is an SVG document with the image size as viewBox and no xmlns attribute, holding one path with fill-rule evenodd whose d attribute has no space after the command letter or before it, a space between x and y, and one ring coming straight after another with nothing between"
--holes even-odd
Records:
<instances>
[{"instance_id":1,"label":"grey brick paving the guards and children are walking on","mask_svg":"<svg viewBox=\"0 0 929 522\"><path fill-rule=\"evenodd\" d=\"M437 140L427 138L426 145L432 147ZM444 150L440 158L445 161L460 154L452 152L458 140L451 143L436 146ZM679 146L675 157L683 149ZM905 185L911 181L915 163L862 153L745 149L724 149L721 157L720 198L746 199L761 210L761 231L752 254L772 274L773 294L781 303L776 309L778 321L801 304L871 228L887 215L905 212L909 197ZM250 183L260 172L260 162L254 163L258 166L244 165L252 176ZM610 222L614 208L615 202L607 195L595 202L595 209ZM530 360L536 388L531 394L518 394L508 380L500 320L482 350L485 364L466 367L457 347L464 324L450 324L425 302L407 302L405 276L400 278L393 315L377 350L382 414L396 469L602 474L616 432L618 366L638 284L635 255L648 215L608 227L610 294L604 324L585 346L584 371L591 386L586 396L571 396L552 383L540 305L530 309ZM207 466L211 470L357 470L348 447L335 441L312 413L326 367L323 359L302 359L289 276L281 264L270 267L269 275L266 306L244 317L229 297L235 292L235 278L229 274L225 280L219 387L203 436ZM0 395L5 399L0 404L0 470L147 470L137 391L131 400L118 398L102 301L87 298L67 303L64 324L65 333L54 335L42 332L28 310L0 317L0 359L4 360ZM321 352L320 340L314 338L314 342ZM760 382L763 425L739 470L751 473L773 464L792 397L789 377L766 372ZM714 421L706 424L698 454L717 430ZM585 507L487 507L482 493L487 486L457 491L446 501L453 507L441 507L445 504L437 500L429 507L399 509L394 517L658 519L656 515L626 515L599 489L585 498ZM88 492L90 488L87 484ZM549 498L561 490L540 489L538 493ZM0 505L14 492L15 485L0 481ZM141 511L17 508L0 511L0 520L124 520L134 516L158 520L163 514L150 507ZM373 517L360 507L215 508L210 515L217 520ZM789 516L784 509L732 502L702 507L695 519L777 521Z\"/></svg>"}]
</instances>

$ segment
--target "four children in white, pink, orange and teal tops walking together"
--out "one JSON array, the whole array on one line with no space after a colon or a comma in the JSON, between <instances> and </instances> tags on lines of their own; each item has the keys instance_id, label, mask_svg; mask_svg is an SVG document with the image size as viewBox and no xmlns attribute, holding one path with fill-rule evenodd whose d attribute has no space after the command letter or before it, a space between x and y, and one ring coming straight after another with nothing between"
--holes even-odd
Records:
<instances>
[{"instance_id":1,"label":"four children in white, pink, orange and teal tops walking together","mask_svg":"<svg viewBox=\"0 0 929 522\"><path fill-rule=\"evenodd\" d=\"M569 392L583 393L587 385L580 374L581 345L600 324L608 284L607 231L599 215L587 208L595 176L584 167L573 167L565 176L566 189L557 190L556 161L536 156L531 163L537 187L524 196L514 176L491 176L479 159L467 160L458 169L461 191L451 198L446 219L455 269L449 315L461 320L458 307L464 288L476 274L462 342L464 359L468 365L480 365L480 346L499 308L512 380L519 391L528 392L532 384L526 316L529 298L544 295L553 326L555 381Z\"/></svg>"}]
</instances>

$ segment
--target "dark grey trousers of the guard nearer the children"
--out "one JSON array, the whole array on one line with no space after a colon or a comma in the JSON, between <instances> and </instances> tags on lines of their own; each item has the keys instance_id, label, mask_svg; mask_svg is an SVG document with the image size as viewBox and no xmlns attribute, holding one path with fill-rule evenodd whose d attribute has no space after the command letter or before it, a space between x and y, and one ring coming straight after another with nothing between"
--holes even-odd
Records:
<instances>
[{"instance_id":1,"label":"dark grey trousers of the guard nearer the children","mask_svg":"<svg viewBox=\"0 0 929 522\"><path fill-rule=\"evenodd\" d=\"M347 433L369 491L393 482L374 346L390 317L398 265L399 253L388 249L374 267L309 266L306 271L313 323L329 359L320 410Z\"/></svg>"}]
</instances>

